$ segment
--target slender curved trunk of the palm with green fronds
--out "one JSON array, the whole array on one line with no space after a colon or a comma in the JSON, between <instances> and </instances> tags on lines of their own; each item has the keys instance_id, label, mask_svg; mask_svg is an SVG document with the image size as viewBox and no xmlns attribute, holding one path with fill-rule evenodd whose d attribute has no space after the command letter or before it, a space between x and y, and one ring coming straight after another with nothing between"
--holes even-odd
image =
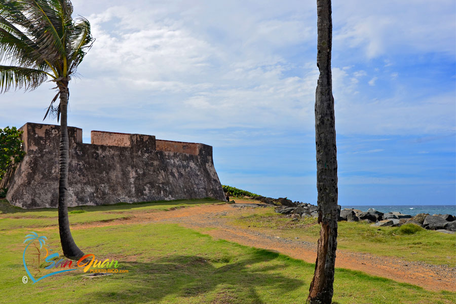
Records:
<instances>
[{"instance_id":1,"label":"slender curved trunk of the palm with green fronds","mask_svg":"<svg viewBox=\"0 0 456 304\"><path fill-rule=\"evenodd\" d=\"M59 232L63 255L70 259L78 259L84 255L74 243L69 229L68 220L68 126L67 104L68 84L60 88L60 155L59 155Z\"/></svg>"}]
</instances>

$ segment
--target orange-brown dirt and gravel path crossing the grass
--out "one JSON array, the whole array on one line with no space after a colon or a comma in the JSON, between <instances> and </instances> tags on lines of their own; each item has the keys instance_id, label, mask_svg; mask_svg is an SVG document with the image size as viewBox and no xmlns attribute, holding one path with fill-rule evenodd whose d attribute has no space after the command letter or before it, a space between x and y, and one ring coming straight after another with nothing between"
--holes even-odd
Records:
<instances>
[{"instance_id":1,"label":"orange-brown dirt and gravel path crossing the grass","mask_svg":"<svg viewBox=\"0 0 456 304\"><path fill-rule=\"evenodd\" d=\"M239 200L237 200L240 203ZM205 205L178 208L171 211L138 212L128 220L113 220L90 224L74 225L73 230L94 226L118 224L168 222L177 223L215 239L233 241L242 245L274 250L288 256L314 263L316 244L300 240L275 237L271 233L260 233L230 224L229 219L220 215L234 215L241 211L229 204ZM212 228L207 230L207 228ZM369 275L410 283L429 290L456 291L456 268L433 265L425 262L405 261L395 257L377 256L369 253L337 250L336 267L365 272Z\"/></svg>"}]
</instances>

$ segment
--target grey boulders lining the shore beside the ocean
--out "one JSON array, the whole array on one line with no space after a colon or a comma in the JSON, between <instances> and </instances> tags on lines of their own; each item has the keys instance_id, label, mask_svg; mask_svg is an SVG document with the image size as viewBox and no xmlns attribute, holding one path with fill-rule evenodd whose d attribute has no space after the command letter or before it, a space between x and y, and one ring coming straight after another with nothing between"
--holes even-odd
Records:
<instances>
[{"instance_id":1,"label":"grey boulders lining the shore beside the ocean","mask_svg":"<svg viewBox=\"0 0 456 304\"><path fill-rule=\"evenodd\" d=\"M304 217L318 217L317 206L300 204L299 206L281 206L275 209L277 213L286 214L293 219ZM451 214L420 213L415 216L400 212L383 213L373 208L366 212L358 209L341 209L339 206L339 221L367 221L373 226L401 226L412 223L428 230L446 233L456 232L456 216Z\"/></svg>"}]
</instances>

